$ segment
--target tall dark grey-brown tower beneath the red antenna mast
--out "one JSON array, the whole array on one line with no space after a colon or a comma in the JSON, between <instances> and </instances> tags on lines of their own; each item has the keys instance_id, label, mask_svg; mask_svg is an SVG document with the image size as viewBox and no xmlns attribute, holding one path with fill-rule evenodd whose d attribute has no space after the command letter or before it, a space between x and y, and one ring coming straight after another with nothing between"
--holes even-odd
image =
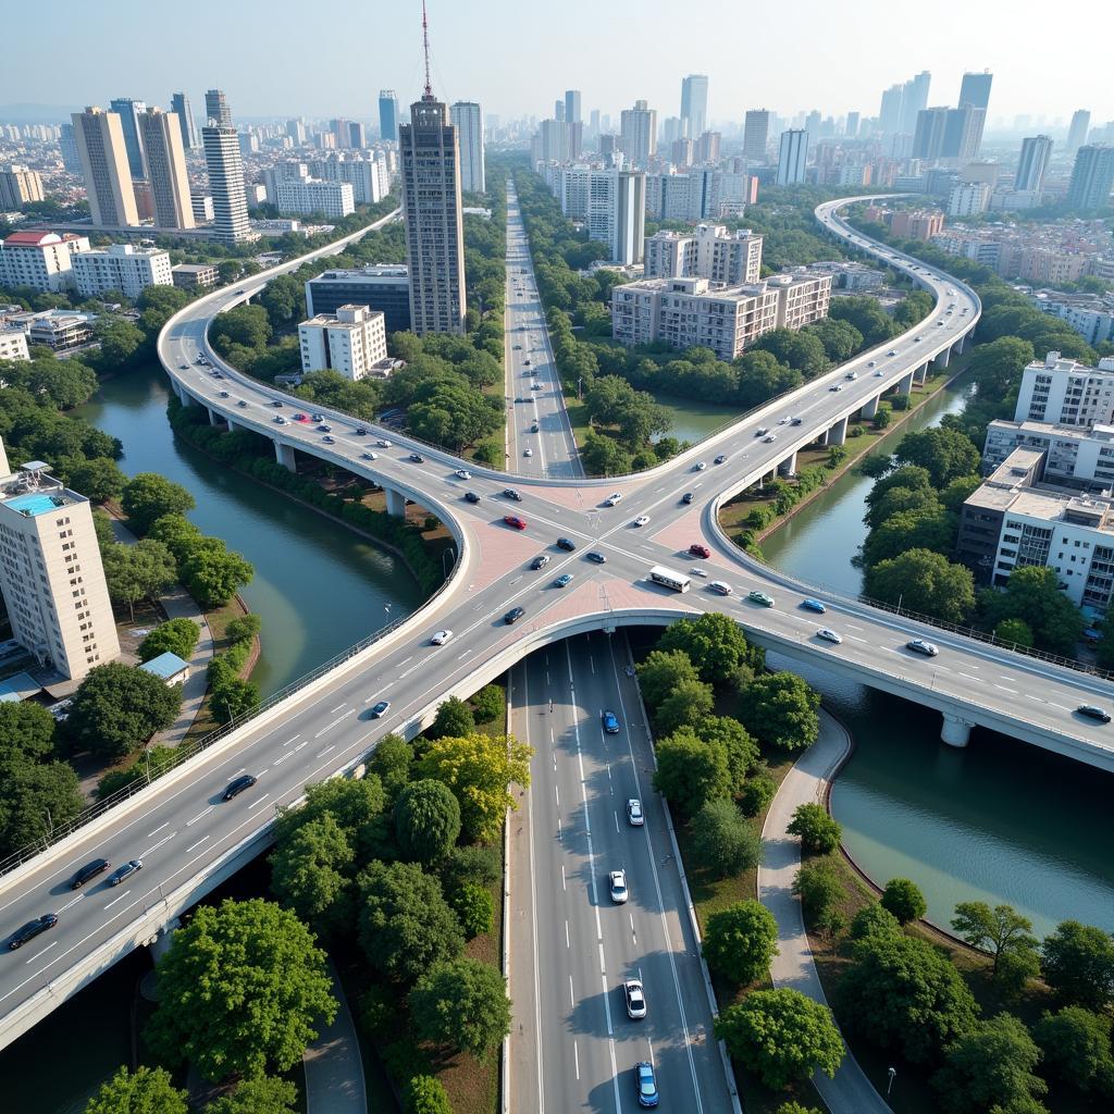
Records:
<instances>
[{"instance_id":1,"label":"tall dark grey-brown tower beneath the red antenna mast","mask_svg":"<svg viewBox=\"0 0 1114 1114\"><path fill-rule=\"evenodd\" d=\"M399 128L402 213L410 266L410 319L419 336L462 333L463 216L460 212L460 141L449 108L426 86Z\"/></svg>"}]
</instances>

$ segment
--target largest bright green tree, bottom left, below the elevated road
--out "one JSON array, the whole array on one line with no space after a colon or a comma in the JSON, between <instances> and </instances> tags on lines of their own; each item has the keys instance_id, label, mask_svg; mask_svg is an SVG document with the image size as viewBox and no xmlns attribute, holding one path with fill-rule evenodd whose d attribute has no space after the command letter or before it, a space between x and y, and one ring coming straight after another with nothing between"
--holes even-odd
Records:
<instances>
[{"instance_id":1,"label":"largest bright green tree, bottom left, below the elevated road","mask_svg":"<svg viewBox=\"0 0 1114 1114\"><path fill-rule=\"evenodd\" d=\"M148 1044L207 1079L287 1071L316 1037L317 1019L336 1014L313 935L293 912L258 898L199 906L157 970Z\"/></svg>"}]
</instances>

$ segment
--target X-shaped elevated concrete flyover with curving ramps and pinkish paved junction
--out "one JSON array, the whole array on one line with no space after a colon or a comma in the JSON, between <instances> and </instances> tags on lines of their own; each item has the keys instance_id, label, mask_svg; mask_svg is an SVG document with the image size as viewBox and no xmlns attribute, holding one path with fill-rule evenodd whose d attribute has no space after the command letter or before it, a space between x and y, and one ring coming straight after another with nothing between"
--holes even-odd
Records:
<instances>
[{"instance_id":1,"label":"X-shaped elevated concrete flyover with curving ramps and pinkish paved junction","mask_svg":"<svg viewBox=\"0 0 1114 1114\"><path fill-rule=\"evenodd\" d=\"M448 583L407 620L0 878L4 930L46 911L60 915L56 929L3 960L0 1046L130 948L157 938L182 910L265 848L274 808L296 801L306 782L351 770L388 731L413 736L448 695L468 695L534 649L573 634L724 612L760 645L822 659L842 675L936 707L948 742L965 743L978 724L1114 769L1108 730L1074 715L1083 702L1114 700L1110 683L831 594L823 595L829 605L823 623L844 641L838 647L823 643L815 637L814 617L800 607L815 589L747 557L719 527L716 512L724 499L763 476L790 470L805 444L839 442L851 416L877 405L887 390L907 389L929 361L946 362L978 319L973 291L859 235L836 212L841 204L818 209L821 225L860 251L886 257L889 266L931 291L937 304L928 319L882 345L885 352L857 356L667 463L619 479L516 477L510 482L521 501L500 494L509 480L502 472L465 465L442 449L341 413L325 412L332 426L332 443L326 443L315 423L292 420L300 400L235 372L209 352L206 334L215 314L304 260L264 272L241 290L201 299L167 323L159 355L186 404L206 407L214 422L268 437L287 467L295 466L297 452L306 452L373 480L387 490L394 512L402 512L408 498L419 501L451 529L458 557ZM895 355L886 354L890 349ZM222 379L195 363L198 352L209 352ZM842 390L832 389L837 385ZM558 390L556 382L547 390ZM285 416L286 423L274 422L276 414ZM801 424L791 424L791 418L800 418ZM758 436L759 428L769 428L775 440ZM377 446L380 439L393 443ZM375 458L368 459L370 453ZM701 467L716 455L724 456L722 463ZM470 479L455 476L462 467ZM465 501L466 490L480 501ZM688 491L691 504L682 500ZM613 492L622 501L605 506ZM508 514L525 518L527 528L506 526ZM643 516L648 521L635 527L633 520ZM557 549L558 537L571 539L576 550ZM714 595L698 578L684 595L647 582L652 565L688 567L692 543L711 549L711 558L701 564L713 578L733 586L732 596ZM606 564L589 561L586 551L598 551ZM550 559L545 569L532 571L529 565L538 555ZM571 583L555 587L554 578L565 573L574 577ZM755 588L773 596L775 606L749 602L746 594ZM504 614L516 606L524 608L524 617L505 625ZM374 622L369 616L369 627ZM444 645L431 645L438 629L455 634ZM935 642L939 657L909 653L905 644L911 636ZM371 720L368 710L379 700L389 700L391 707ZM225 784L242 771L256 774L258 784L235 802L222 802ZM145 869L123 892L94 887L72 897L67 879L97 856L139 856Z\"/></svg>"}]
</instances>

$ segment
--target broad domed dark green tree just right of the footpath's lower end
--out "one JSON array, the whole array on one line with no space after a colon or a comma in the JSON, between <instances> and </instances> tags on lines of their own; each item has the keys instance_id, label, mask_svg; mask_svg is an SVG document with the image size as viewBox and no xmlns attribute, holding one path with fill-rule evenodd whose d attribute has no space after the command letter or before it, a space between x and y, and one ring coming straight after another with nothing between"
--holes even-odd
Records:
<instances>
[{"instance_id":1,"label":"broad domed dark green tree just right of the footpath's lower end","mask_svg":"<svg viewBox=\"0 0 1114 1114\"><path fill-rule=\"evenodd\" d=\"M839 988L840 1016L879 1048L930 1064L945 1045L970 1032L978 1007L955 964L927 940L868 936Z\"/></svg>"}]
</instances>

